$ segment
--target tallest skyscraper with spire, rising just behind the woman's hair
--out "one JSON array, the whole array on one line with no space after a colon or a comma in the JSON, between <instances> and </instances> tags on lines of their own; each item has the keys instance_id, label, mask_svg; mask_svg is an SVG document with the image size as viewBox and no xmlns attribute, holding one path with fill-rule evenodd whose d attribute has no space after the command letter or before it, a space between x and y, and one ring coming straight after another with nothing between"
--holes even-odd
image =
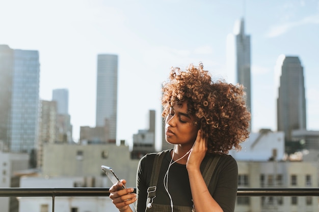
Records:
<instances>
[{"instance_id":1,"label":"tallest skyscraper with spire, rising just behind the woman's hair","mask_svg":"<svg viewBox=\"0 0 319 212\"><path fill-rule=\"evenodd\" d=\"M232 83L240 83L245 86L246 105L251 111L250 36L245 35L244 29L244 19L237 20L233 34L227 37L227 67L229 74L235 73L236 76Z\"/></svg>"}]
</instances>

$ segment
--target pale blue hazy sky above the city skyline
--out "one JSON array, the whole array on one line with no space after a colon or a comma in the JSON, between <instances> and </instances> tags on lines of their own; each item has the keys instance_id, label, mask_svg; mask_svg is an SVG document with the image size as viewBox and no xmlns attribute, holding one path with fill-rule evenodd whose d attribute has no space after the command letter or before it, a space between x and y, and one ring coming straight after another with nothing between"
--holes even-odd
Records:
<instances>
[{"instance_id":1,"label":"pale blue hazy sky above the city skyline","mask_svg":"<svg viewBox=\"0 0 319 212\"><path fill-rule=\"evenodd\" d=\"M252 131L277 130L274 67L281 54L304 68L307 129L319 130L319 1L0 0L0 44L38 50L40 98L69 90L73 138L95 127L97 55L117 54L117 138L131 143L156 111L170 68L202 62L213 79L226 72L226 38L244 18L251 37Z\"/></svg>"}]
</instances>

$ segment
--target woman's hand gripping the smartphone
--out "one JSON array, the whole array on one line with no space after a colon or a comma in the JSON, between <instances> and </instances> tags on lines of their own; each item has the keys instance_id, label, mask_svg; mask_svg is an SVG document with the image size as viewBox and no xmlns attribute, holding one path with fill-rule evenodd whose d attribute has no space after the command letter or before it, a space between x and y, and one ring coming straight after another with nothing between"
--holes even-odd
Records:
<instances>
[{"instance_id":1,"label":"woman's hand gripping the smartphone","mask_svg":"<svg viewBox=\"0 0 319 212\"><path fill-rule=\"evenodd\" d=\"M126 180L121 179L119 183L114 184L110 188L110 198L112 199L113 204L120 211L132 211L129 207L129 204L134 203L137 198L134 192L134 189L123 189L123 185L125 186Z\"/></svg>"}]
</instances>

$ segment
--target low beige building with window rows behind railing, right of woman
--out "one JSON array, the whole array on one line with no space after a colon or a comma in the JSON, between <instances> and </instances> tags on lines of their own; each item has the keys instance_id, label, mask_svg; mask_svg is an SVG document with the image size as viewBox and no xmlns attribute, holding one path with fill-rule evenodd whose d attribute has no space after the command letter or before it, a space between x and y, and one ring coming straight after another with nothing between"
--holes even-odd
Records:
<instances>
[{"instance_id":1,"label":"low beige building with window rows behind railing, right of woman","mask_svg":"<svg viewBox=\"0 0 319 212\"><path fill-rule=\"evenodd\" d=\"M317 165L302 161L237 161L238 188L316 188ZM317 211L314 196L238 196L235 211Z\"/></svg>"}]
</instances>

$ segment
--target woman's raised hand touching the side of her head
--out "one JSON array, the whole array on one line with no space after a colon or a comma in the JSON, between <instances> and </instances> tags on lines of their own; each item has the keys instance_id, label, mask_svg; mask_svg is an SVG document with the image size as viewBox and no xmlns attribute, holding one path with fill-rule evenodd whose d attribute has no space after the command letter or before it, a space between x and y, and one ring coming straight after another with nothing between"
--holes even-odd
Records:
<instances>
[{"instance_id":1,"label":"woman's raised hand touching the side of her head","mask_svg":"<svg viewBox=\"0 0 319 212\"><path fill-rule=\"evenodd\" d=\"M188 157L186 168L199 169L207 151L207 138L203 136L202 130L198 130L195 144Z\"/></svg>"}]
</instances>

